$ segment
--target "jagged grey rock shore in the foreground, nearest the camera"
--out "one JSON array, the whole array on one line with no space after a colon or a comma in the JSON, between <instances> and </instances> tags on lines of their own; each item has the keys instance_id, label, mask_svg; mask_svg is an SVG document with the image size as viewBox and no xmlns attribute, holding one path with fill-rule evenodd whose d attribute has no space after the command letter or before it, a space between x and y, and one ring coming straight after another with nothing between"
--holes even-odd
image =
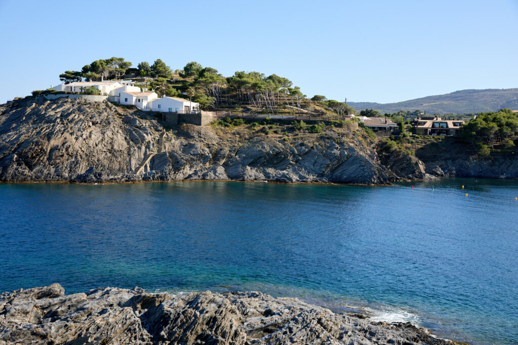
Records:
<instances>
[{"instance_id":1,"label":"jagged grey rock shore in the foreground, nearest the camera","mask_svg":"<svg viewBox=\"0 0 518 345\"><path fill-rule=\"evenodd\" d=\"M260 292L174 296L140 288L0 294L0 344L451 344L410 323L372 322Z\"/></svg>"}]
</instances>

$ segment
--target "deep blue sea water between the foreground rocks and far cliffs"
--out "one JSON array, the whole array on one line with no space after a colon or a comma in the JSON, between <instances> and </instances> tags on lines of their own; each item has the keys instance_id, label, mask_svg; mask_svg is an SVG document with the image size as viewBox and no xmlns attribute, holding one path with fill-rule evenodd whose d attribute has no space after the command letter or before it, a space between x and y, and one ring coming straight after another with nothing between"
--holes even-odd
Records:
<instances>
[{"instance_id":1,"label":"deep blue sea water between the foreground rocks and far cliffs","mask_svg":"<svg viewBox=\"0 0 518 345\"><path fill-rule=\"evenodd\" d=\"M516 181L458 178L0 184L0 291L260 290L515 344L515 197Z\"/></svg>"}]
</instances>

